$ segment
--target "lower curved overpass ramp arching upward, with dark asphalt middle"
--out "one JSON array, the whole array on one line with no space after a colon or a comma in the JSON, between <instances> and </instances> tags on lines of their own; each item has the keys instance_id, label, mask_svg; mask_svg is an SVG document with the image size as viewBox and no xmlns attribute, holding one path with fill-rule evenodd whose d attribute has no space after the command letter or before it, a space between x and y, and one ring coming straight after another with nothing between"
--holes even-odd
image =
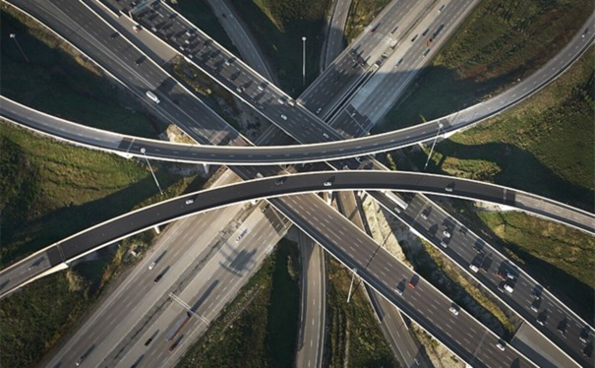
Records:
<instances>
[{"instance_id":1,"label":"lower curved overpass ramp arching upward, with dark asphalt middle","mask_svg":"<svg viewBox=\"0 0 595 368\"><path fill-rule=\"evenodd\" d=\"M51 269L60 267L55 269L58 271L64 268L64 263L73 262L114 241L156 225L167 224L175 219L249 200L328 190L413 191L478 200L515 207L595 233L595 215L592 213L499 185L414 172L365 170L309 172L209 188L109 219L52 244L0 271L0 292L2 293L0 297L40 276L49 274Z\"/></svg>"}]
</instances>

